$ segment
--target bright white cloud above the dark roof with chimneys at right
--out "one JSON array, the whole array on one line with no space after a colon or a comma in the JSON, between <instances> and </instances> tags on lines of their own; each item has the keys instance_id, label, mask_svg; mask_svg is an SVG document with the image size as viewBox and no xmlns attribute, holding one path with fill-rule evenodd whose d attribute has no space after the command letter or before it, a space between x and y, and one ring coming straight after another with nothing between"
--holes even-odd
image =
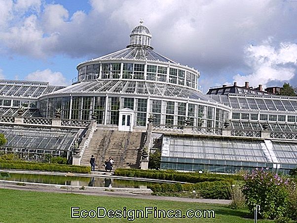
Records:
<instances>
[{"instance_id":1,"label":"bright white cloud above the dark roof with chimneys at right","mask_svg":"<svg viewBox=\"0 0 297 223\"><path fill-rule=\"evenodd\" d=\"M281 43L278 47L268 45L250 45L246 48L247 63L253 73L235 75L239 85L249 81L251 86L265 86L271 81L285 82L294 78L297 65L297 44ZM271 44L271 43L270 43Z\"/></svg>"}]
</instances>

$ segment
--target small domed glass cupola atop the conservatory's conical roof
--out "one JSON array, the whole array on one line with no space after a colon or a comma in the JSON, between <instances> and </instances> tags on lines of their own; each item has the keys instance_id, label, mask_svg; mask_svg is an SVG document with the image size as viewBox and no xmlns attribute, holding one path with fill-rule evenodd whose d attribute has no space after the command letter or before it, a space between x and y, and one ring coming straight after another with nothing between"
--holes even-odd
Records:
<instances>
[{"instance_id":1,"label":"small domed glass cupola atop the conservatory's conical roof","mask_svg":"<svg viewBox=\"0 0 297 223\"><path fill-rule=\"evenodd\" d=\"M133 28L130 34L130 45L127 45L127 48L134 46L143 46L153 49L150 46L151 34L148 27L143 25L144 21L140 20L140 25Z\"/></svg>"}]
</instances>

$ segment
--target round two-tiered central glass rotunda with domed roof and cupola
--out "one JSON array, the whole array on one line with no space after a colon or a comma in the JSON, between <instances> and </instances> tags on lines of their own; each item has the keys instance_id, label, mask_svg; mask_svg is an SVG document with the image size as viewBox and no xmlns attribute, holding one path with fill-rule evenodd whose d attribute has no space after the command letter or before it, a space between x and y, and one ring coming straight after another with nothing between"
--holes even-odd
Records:
<instances>
[{"instance_id":1,"label":"round two-tiered central glass rotunda with domed roof and cupola","mask_svg":"<svg viewBox=\"0 0 297 223\"><path fill-rule=\"evenodd\" d=\"M149 115L156 125L221 127L230 108L202 94L199 72L155 51L142 23L130 34L126 48L77 66L77 82L39 98L43 117L62 109L64 119L91 119L119 128L146 128ZM124 109L124 110L123 110Z\"/></svg>"}]
</instances>

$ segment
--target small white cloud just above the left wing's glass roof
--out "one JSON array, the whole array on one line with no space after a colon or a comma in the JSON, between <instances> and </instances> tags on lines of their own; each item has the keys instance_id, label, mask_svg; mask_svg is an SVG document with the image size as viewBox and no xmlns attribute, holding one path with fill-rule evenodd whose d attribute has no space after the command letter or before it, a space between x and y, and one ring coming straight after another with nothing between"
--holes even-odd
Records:
<instances>
[{"instance_id":1,"label":"small white cloud just above the left wing's glass roof","mask_svg":"<svg viewBox=\"0 0 297 223\"><path fill-rule=\"evenodd\" d=\"M50 85L67 86L66 78L61 72L53 72L50 69L43 71L37 70L31 74L28 74L25 78L29 81L45 81Z\"/></svg>"}]
</instances>

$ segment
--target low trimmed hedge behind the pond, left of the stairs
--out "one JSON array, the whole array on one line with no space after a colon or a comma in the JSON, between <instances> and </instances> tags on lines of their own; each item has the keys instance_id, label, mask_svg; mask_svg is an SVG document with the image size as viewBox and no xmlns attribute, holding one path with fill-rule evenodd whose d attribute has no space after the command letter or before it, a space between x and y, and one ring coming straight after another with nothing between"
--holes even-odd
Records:
<instances>
[{"instance_id":1,"label":"low trimmed hedge behind the pond, left of the stairs","mask_svg":"<svg viewBox=\"0 0 297 223\"><path fill-rule=\"evenodd\" d=\"M71 173L90 173L90 167L48 164L48 163L34 163L26 161L12 161L0 160L1 169L18 169L18 170L39 170L39 171L58 171Z\"/></svg>"}]
</instances>

